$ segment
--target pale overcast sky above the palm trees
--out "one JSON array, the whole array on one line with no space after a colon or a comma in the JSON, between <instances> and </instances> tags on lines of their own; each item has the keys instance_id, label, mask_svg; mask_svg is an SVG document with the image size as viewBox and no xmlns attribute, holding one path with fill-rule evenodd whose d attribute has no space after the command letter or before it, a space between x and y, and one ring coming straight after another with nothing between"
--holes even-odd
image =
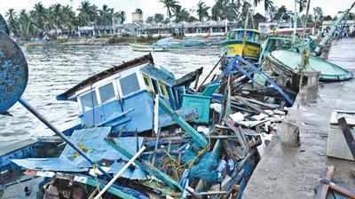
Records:
<instances>
[{"instance_id":1,"label":"pale overcast sky above the palm trees","mask_svg":"<svg viewBox=\"0 0 355 199\"><path fill-rule=\"evenodd\" d=\"M204 0L206 4L212 6L216 0ZM77 8L82 0L0 0L0 13L4 13L9 8L14 8L16 11L20 9L31 9L34 4L37 2L42 2L45 6L51 4L60 3L60 4L71 4L74 8ZM99 7L102 7L103 4L107 4L110 7L114 7L114 10L123 10L127 12L128 21L130 22L130 12L134 12L136 8L140 8L144 12L144 18L154 13L166 13L162 3L159 3L159 0L90 0L91 3L97 4ZM187 9L195 9L196 4L199 0L179 0L183 7ZM251 1L250 1L251 2ZM285 4L288 9L293 10L293 0L274 0L277 6ZM338 11L343 11L351 6L353 0L312 0L312 7L321 7L325 14L335 15ZM264 14L262 6L260 5L256 11Z\"/></svg>"}]
</instances>

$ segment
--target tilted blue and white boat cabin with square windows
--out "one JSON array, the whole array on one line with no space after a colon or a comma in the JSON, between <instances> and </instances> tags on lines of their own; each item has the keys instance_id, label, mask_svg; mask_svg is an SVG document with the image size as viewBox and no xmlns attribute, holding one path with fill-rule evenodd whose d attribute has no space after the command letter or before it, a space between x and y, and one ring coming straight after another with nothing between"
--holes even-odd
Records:
<instances>
[{"instance_id":1,"label":"tilted blue and white boat cabin with square windows","mask_svg":"<svg viewBox=\"0 0 355 199\"><path fill-rule=\"evenodd\" d=\"M110 126L130 134L152 129L156 95L174 110L181 107L184 89L175 84L173 74L148 55L91 76L57 99L77 102L83 128ZM160 115L161 127L172 123Z\"/></svg>"}]
</instances>

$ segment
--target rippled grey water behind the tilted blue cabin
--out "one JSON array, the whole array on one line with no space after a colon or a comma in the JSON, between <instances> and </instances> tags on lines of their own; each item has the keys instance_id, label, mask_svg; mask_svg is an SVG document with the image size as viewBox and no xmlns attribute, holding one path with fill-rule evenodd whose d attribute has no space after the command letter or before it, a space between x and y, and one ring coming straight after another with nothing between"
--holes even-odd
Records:
<instances>
[{"instance_id":1,"label":"rippled grey water behind the tilted blue cabin","mask_svg":"<svg viewBox=\"0 0 355 199\"><path fill-rule=\"evenodd\" d=\"M24 48L28 59L29 83L23 96L59 130L75 121L75 102L58 101L55 97L83 79L125 60L137 58L144 52L133 52L129 46L35 46ZM212 68L219 50L155 52L154 61L170 68L177 77L205 67ZM36 117L16 104L12 117L0 115L0 148L30 137L51 135Z\"/></svg>"}]
</instances>

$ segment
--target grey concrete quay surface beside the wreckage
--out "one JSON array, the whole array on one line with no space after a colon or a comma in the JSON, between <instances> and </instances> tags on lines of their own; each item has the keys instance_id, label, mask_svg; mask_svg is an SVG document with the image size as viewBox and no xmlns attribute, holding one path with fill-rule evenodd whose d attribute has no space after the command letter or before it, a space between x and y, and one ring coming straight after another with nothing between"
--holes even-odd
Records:
<instances>
[{"instance_id":1,"label":"grey concrete quay surface beside the wreckage","mask_svg":"<svg viewBox=\"0 0 355 199\"><path fill-rule=\"evenodd\" d=\"M329 60L355 71L355 39L334 44ZM244 199L314 198L314 188L327 165L335 165L334 181L355 188L351 170L355 162L327 157L329 132L341 132L331 126L329 119L334 109L355 110L355 80L322 84L316 103L290 109L288 120L300 128L300 147L284 147L274 136L269 151L256 167L244 192Z\"/></svg>"}]
</instances>

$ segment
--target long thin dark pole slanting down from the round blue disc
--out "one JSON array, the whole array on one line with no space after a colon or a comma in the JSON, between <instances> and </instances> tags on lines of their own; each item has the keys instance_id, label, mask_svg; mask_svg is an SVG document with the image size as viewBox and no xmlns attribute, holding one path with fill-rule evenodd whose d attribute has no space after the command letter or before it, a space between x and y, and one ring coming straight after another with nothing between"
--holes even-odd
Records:
<instances>
[{"instance_id":1,"label":"long thin dark pole slanting down from the round blue disc","mask_svg":"<svg viewBox=\"0 0 355 199\"><path fill-rule=\"evenodd\" d=\"M31 107L28 104L27 100L20 99L19 102L23 107L26 107L26 109L28 109L28 111L31 114L35 115L37 117L37 119L39 119L42 123L44 123L44 125L46 125L48 128L50 128L51 131L53 131L56 135L58 135L61 139L63 139L67 143L67 145L72 147L79 155L82 155L85 160L87 160L89 163L91 163L91 165L96 165L96 163L94 163L91 160L91 158L88 155L86 155L82 149L80 149L80 147L77 147L74 142L72 142L70 139L67 139L67 136L65 136L55 126L53 126L47 119L44 118L43 115L38 113L34 107ZM99 169L99 171L104 173L107 177L111 178L111 176L106 171L104 171L100 166L98 166L98 169Z\"/></svg>"}]
</instances>

